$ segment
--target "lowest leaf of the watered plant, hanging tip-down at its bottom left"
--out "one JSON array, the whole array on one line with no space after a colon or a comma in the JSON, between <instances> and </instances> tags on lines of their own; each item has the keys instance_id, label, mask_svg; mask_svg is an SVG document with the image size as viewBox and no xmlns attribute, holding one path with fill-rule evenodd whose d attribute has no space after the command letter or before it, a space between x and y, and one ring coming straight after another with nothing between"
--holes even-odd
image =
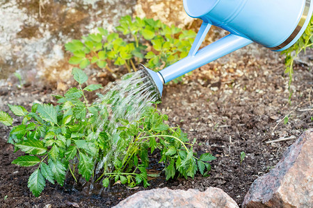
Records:
<instances>
[{"instance_id":1,"label":"lowest leaf of the watered plant, hanging tip-down at its bottom left","mask_svg":"<svg viewBox=\"0 0 313 208\"><path fill-rule=\"evenodd\" d=\"M38 197L45 188L45 185L45 177L42 176L39 169L36 169L29 177L29 184L27 187L29 187L35 197Z\"/></svg>"}]
</instances>

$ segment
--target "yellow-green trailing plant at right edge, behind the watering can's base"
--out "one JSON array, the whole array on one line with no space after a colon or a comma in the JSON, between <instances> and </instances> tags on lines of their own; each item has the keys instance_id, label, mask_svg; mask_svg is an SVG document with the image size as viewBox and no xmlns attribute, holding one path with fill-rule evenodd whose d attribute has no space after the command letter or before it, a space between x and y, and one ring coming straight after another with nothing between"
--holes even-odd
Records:
<instances>
[{"instance_id":1,"label":"yellow-green trailing plant at right edge, behind the watering can's base","mask_svg":"<svg viewBox=\"0 0 313 208\"><path fill-rule=\"evenodd\" d=\"M292 91L290 89L290 85L292 82L292 74L294 73L294 60L299 55L301 51L305 51L307 48L313 47L313 16L310 19L310 23L303 35L299 38L299 40L291 46L289 49L282 51L282 54L286 55L284 60L284 64L286 69L284 73L289 74L289 100L291 99Z\"/></svg>"}]
</instances>

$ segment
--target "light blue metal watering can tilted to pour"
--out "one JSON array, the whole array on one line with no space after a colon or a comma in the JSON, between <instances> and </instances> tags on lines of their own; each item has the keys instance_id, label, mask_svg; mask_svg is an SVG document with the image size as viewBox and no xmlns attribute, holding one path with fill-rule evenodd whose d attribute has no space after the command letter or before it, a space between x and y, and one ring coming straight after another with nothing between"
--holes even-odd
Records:
<instances>
[{"instance_id":1,"label":"light blue metal watering can tilted to pour","mask_svg":"<svg viewBox=\"0 0 313 208\"><path fill-rule=\"evenodd\" d=\"M140 67L156 85L159 98L164 83L252 42L272 51L288 49L305 31L313 10L313 0L183 1L190 17L203 20L188 55L157 73ZM230 35L198 51L211 25L230 31Z\"/></svg>"}]
</instances>

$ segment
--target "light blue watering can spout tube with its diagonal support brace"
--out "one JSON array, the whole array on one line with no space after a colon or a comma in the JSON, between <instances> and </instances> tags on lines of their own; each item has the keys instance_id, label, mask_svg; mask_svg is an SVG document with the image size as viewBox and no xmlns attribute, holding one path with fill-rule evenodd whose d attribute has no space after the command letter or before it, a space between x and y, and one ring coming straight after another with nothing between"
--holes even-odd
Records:
<instances>
[{"instance_id":1,"label":"light blue watering can spout tube with its diagonal support brace","mask_svg":"<svg viewBox=\"0 0 313 208\"><path fill-rule=\"evenodd\" d=\"M168 83L170 80L202 67L204 64L252 43L252 40L249 40L246 37L230 33L230 35L226 35L220 40L217 40L198 51L205 35L209 32L210 27L211 24L203 21L188 55L182 60L179 60L158 72L163 83Z\"/></svg>"}]
</instances>

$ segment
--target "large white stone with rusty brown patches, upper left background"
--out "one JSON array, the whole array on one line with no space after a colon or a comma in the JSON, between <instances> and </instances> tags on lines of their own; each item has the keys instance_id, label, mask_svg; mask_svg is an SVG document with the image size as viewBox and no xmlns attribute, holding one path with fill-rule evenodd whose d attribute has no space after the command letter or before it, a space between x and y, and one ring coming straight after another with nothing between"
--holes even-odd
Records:
<instances>
[{"instance_id":1,"label":"large white stone with rusty brown patches, upper left background","mask_svg":"<svg viewBox=\"0 0 313 208\"><path fill-rule=\"evenodd\" d=\"M17 82L60 85L70 80L70 53L64 45L97 27L115 31L132 15L136 0L0 1L0 87Z\"/></svg>"}]
</instances>

